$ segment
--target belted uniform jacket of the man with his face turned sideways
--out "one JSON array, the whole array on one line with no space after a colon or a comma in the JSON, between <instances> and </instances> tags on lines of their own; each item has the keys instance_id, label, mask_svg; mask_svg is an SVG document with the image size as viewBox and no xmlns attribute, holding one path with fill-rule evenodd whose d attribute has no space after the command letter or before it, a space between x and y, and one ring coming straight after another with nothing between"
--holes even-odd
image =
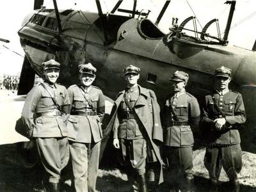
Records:
<instances>
[{"instance_id":1,"label":"belted uniform jacket of the man with his face turned sideways","mask_svg":"<svg viewBox=\"0 0 256 192\"><path fill-rule=\"evenodd\" d=\"M196 129L200 121L200 108L196 98L186 91L179 92L178 96L177 94L172 97L168 96L163 115L164 145L170 147L192 146L194 138L191 128ZM179 124L181 122L184 124Z\"/></svg>"}]
</instances>

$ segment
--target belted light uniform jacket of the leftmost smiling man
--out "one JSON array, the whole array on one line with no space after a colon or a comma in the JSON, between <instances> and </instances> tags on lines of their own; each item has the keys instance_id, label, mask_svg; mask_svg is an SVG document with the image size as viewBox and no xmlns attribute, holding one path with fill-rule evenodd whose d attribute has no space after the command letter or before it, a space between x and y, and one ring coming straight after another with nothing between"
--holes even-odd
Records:
<instances>
[{"instance_id":1,"label":"belted light uniform jacket of the leftmost smiling man","mask_svg":"<svg viewBox=\"0 0 256 192\"><path fill-rule=\"evenodd\" d=\"M49 93L43 86L47 88ZM49 85L46 82L36 85L29 91L22 110L22 119L28 128L30 137L66 137L67 126L63 116L38 116L44 112L56 112L58 108L52 101L62 108L63 114L68 113L70 101L67 89L63 85Z\"/></svg>"}]
</instances>

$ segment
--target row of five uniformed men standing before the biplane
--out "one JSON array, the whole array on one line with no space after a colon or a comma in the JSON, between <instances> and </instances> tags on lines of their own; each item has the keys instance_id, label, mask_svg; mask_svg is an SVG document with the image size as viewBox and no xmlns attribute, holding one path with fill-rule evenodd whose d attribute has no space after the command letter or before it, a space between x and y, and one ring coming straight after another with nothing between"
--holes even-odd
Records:
<instances>
[{"instance_id":1,"label":"row of five uniformed men standing before the biplane","mask_svg":"<svg viewBox=\"0 0 256 192\"><path fill-rule=\"evenodd\" d=\"M42 67L44 82L28 93L22 119L45 168L45 189L60 191L61 170L70 157L74 189L96 191L105 110L102 91L92 85L97 70L91 63L80 64L80 84L66 89L56 83L60 63L51 59ZM156 94L138 85L140 68L127 66L124 76L127 87L117 94L105 130L113 131L113 146L120 152L120 163L127 167L132 191L148 191L146 170L151 168L159 175L156 184L164 178L170 191L195 191L191 171L193 130L198 124L206 147L209 190L218 190L223 166L230 189L239 191L237 174L242 164L238 129L246 114L241 94L228 89L231 70L225 66L216 69L214 91L205 96L201 114L198 101L185 89L188 73L173 73L170 92L174 93L164 102L162 124ZM168 166L165 177L164 164Z\"/></svg>"}]
</instances>

